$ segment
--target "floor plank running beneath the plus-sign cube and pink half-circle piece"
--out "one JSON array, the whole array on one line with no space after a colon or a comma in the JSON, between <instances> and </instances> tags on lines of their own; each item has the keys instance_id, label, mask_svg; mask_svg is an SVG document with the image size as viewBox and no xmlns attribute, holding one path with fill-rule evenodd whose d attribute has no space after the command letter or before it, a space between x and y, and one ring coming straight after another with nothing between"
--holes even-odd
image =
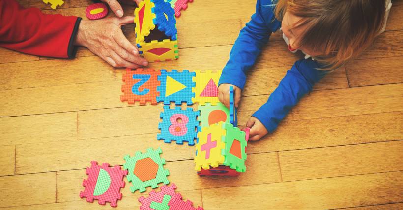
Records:
<instances>
[{"instance_id":1,"label":"floor plank running beneath the plus-sign cube and pink half-circle piece","mask_svg":"<svg viewBox=\"0 0 403 210\"><path fill-rule=\"evenodd\" d=\"M168 157L168 156L167 156ZM175 183L177 190L197 190L211 187L229 187L240 185L255 185L262 183L280 182L280 170L277 161L277 153L264 153L248 155L247 172L239 177L199 177L194 170L193 160L167 162L165 168L170 171L168 179ZM86 179L85 170L70 170L57 172L58 177L58 202L80 200L78 192L83 189L81 183ZM127 187L121 190L123 196L132 194ZM147 191L151 189L148 187ZM134 195L140 195L136 191ZM194 201L195 203L197 201ZM198 203L202 205L201 203Z\"/></svg>"}]
</instances>

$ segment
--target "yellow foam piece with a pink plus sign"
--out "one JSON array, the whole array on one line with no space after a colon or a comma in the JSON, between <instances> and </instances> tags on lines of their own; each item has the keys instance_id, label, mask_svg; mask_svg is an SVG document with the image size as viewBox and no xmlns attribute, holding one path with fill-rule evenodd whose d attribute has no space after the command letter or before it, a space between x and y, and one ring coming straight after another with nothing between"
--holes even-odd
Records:
<instances>
[{"instance_id":1,"label":"yellow foam piece with a pink plus sign","mask_svg":"<svg viewBox=\"0 0 403 210\"><path fill-rule=\"evenodd\" d=\"M205 170L210 169L210 166L218 167L224 163L225 159L222 153L225 149L225 135L226 131L223 129L223 122L204 127L197 134L199 140L196 144L197 152L194 160L196 171L200 171L202 168ZM214 142L216 142L215 147L211 148ZM202 147L205 147L205 149L202 149Z\"/></svg>"}]
</instances>

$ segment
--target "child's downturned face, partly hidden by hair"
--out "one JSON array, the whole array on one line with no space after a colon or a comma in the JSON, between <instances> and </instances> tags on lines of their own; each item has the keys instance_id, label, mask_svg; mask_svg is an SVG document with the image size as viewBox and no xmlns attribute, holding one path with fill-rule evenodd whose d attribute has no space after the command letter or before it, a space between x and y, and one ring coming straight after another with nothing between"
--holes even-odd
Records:
<instances>
[{"instance_id":1,"label":"child's downturned face, partly hidden by hair","mask_svg":"<svg viewBox=\"0 0 403 210\"><path fill-rule=\"evenodd\" d=\"M300 21L302 18L295 16L289 12L286 12L283 17L283 21L281 22L281 28L283 30L284 35L287 36L289 40L289 50L294 51L296 49L304 51L306 54L309 54L311 56L317 56L322 53L320 52L315 52L310 47L305 47L305 46L300 46L298 44L298 40L302 37L304 34L304 31L307 30L308 26L307 25L301 25L297 26L294 28L290 28L293 26L295 23Z\"/></svg>"}]
</instances>

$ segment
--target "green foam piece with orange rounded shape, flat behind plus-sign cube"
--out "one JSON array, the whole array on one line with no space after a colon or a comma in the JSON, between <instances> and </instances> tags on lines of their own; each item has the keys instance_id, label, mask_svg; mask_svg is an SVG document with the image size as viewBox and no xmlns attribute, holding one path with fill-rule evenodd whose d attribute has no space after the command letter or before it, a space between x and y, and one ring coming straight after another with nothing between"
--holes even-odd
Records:
<instances>
[{"instance_id":1,"label":"green foam piece with orange rounded shape, flat behind plus-sign cube","mask_svg":"<svg viewBox=\"0 0 403 210\"><path fill-rule=\"evenodd\" d=\"M230 122L230 110L224 104L218 102L215 106L206 103L205 106L199 105L199 121L201 122L199 131L203 127L208 127L218 122Z\"/></svg>"}]
</instances>

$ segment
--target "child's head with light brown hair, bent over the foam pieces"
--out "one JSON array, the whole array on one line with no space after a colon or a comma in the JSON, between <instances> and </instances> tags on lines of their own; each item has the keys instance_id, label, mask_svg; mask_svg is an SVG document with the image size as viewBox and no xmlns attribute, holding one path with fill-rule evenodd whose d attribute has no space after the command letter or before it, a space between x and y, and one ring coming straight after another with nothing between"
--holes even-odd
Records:
<instances>
[{"instance_id":1,"label":"child's head with light brown hair, bent over the foam pieces","mask_svg":"<svg viewBox=\"0 0 403 210\"><path fill-rule=\"evenodd\" d=\"M276 18L290 47L336 69L382 30L385 0L278 0Z\"/></svg>"}]
</instances>

